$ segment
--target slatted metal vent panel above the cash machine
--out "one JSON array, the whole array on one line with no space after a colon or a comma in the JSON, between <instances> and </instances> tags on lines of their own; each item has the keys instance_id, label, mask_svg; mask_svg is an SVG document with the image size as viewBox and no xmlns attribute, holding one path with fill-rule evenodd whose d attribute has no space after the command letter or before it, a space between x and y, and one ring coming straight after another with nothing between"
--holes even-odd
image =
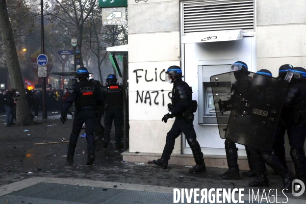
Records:
<instances>
[{"instance_id":1,"label":"slatted metal vent panel above the cash machine","mask_svg":"<svg viewBox=\"0 0 306 204\"><path fill-rule=\"evenodd\" d=\"M254 0L183 3L183 22L184 34L234 29L253 32Z\"/></svg>"}]
</instances>

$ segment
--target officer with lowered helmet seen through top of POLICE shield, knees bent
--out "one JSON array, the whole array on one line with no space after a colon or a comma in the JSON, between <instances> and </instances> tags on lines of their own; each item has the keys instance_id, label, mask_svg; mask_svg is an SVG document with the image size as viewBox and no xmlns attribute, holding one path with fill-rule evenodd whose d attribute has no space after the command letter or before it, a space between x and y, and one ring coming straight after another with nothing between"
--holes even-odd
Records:
<instances>
[{"instance_id":1,"label":"officer with lowered helmet seen through top of POLICE shield, knees bent","mask_svg":"<svg viewBox=\"0 0 306 204\"><path fill-rule=\"evenodd\" d=\"M272 73L267 69L261 69L257 72L258 74L266 75L272 78ZM274 87L268 80L268 78L259 79L260 88L256 88L256 79L254 78L253 84L254 89L256 89L257 94L256 97L264 97L265 101L273 101L275 100L275 92L278 87ZM274 136L273 144L277 140ZM257 179L250 182L248 185L250 187L262 187L268 186L268 178L266 174L265 163L269 165L278 175L283 178L284 189L291 188L291 184L293 181L292 173L288 171L288 169L282 164L281 160L272 154L273 145L270 150L260 150L256 148L251 148L252 155L252 163L253 169L257 173Z\"/></svg>"}]
</instances>

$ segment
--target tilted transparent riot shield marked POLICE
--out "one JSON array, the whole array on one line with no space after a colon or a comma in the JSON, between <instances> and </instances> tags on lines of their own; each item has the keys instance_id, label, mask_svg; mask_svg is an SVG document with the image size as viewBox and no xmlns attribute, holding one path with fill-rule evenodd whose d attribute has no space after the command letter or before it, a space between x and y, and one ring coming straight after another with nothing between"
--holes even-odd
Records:
<instances>
[{"instance_id":1,"label":"tilted transparent riot shield marked POLICE","mask_svg":"<svg viewBox=\"0 0 306 204\"><path fill-rule=\"evenodd\" d=\"M269 150L289 83L252 72L241 72L225 139Z\"/></svg>"}]
</instances>

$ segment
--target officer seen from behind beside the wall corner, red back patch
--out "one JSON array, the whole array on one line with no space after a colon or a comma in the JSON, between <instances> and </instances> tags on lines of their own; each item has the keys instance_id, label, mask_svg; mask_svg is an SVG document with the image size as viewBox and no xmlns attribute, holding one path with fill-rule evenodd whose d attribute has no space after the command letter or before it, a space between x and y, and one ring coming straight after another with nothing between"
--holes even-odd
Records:
<instances>
[{"instance_id":1,"label":"officer seen from behind beside the wall corner, red back patch","mask_svg":"<svg viewBox=\"0 0 306 204\"><path fill-rule=\"evenodd\" d=\"M105 97L105 139L103 147L107 148L110 141L113 120L115 123L116 150L123 148L121 138L123 135L123 92L122 86L117 84L115 74L109 74L106 79L103 95Z\"/></svg>"}]
</instances>

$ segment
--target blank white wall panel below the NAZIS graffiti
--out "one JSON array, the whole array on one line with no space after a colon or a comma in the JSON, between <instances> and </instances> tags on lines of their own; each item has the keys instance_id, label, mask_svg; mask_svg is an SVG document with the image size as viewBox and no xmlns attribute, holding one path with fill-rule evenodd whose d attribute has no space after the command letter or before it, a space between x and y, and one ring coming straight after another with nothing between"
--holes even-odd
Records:
<instances>
[{"instance_id":1,"label":"blank white wall panel below the NAZIS graffiti","mask_svg":"<svg viewBox=\"0 0 306 204\"><path fill-rule=\"evenodd\" d=\"M172 121L130 120L130 152L162 153ZM173 154L181 154L181 136L175 140Z\"/></svg>"}]
</instances>

